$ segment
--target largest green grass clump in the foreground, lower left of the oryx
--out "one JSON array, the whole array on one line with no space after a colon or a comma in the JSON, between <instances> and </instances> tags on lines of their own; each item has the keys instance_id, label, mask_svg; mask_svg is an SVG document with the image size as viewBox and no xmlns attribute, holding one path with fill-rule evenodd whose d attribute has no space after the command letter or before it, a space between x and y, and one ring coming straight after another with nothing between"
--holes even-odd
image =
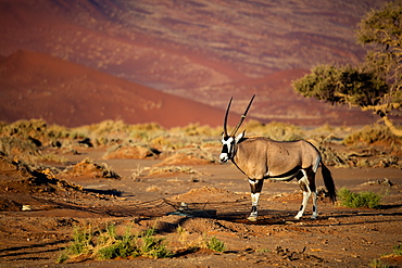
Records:
<instances>
[{"instance_id":1,"label":"largest green grass clump in the foreground, lower left of the oryx","mask_svg":"<svg viewBox=\"0 0 402 268\"><path fill-rule=\"evenodd\" d=\"M76 227L73 231L73 242L56 259L63 263L77 256L92 259L113 259L117 257L171 257L172 252L166 248L163 238L156 238L153 228L139 234L131 234L129 228L123 235L117 235L115 225L111 224L104 230L96 229L91 225Z\"/></svg>"}]
</instances>

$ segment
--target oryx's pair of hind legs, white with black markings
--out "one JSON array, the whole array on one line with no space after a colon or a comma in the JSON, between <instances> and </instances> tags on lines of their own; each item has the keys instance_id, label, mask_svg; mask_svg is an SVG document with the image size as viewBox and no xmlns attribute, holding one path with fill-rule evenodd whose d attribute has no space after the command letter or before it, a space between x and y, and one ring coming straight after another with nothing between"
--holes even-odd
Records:
<instances>
[{"instance_id":1,"label":"oryx's pair of hind legs, white with black markings","mask_svg":"<svg viewBox=\"0 0 402 268\"><path fill-rule=\"evenodd\" d=\"M312 219L317 217L317 191L315 187L315 173L313 170L301 170L301 176L297 176L299 186L303 191L303 201L300 206L299 213L294 216L296 219L300 219L307 206L309 199L313 194L313 215Z\"/></svg>"}]
</instances>

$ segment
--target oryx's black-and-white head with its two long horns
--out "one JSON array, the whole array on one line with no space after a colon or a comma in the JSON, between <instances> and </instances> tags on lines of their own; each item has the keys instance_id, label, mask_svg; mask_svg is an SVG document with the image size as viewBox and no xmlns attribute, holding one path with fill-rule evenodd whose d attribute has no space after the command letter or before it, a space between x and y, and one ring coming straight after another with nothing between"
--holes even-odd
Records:
<instances>
[{"instance_id":1,"label":"oryx's black-and-white head with its two long horns","mask_svg":"<svg viewBox=\"0 0 402 268\"><path fill-rule=\"evenodd\" d=\"M234 157L235 146L236 146L237 142L239 142L244 137L244 131L241 132L240 135L238 135L237 137L235 137L235 136L236 136L237 130L239 130L241 124L243 123L243 120L246 118L246 115L249 112L249 109L251 106L251 103L254 100L254 97L255 97L255 94L251 98L251 101L250 101L249 105L247 106L246 112L241 115L239 124L237 124L237 126L234 128L231 133L228 135L227 133L227 116L229 114L231 100L234 99L234 98L230 98L229 105L227 105L225 120L224 120L224 132L222 133L222 145L223 145L223 148L222 148L222 152L221 152L221 155L219 155L219 159L221 159L222 163L226 163L228 159L231 159Z\"/></svg>"}]
</instances>

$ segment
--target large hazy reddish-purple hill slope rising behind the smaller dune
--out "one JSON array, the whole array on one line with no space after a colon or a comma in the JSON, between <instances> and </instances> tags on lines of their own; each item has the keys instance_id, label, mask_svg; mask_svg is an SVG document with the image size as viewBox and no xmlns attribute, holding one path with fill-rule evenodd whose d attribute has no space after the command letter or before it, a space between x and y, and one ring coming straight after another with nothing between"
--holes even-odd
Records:
<instances>
[{"instance_id":1,"label":"large hazy reddish-purple hill slope rising behind the smaller dune","mask_svg":"<svg viewBox=\"0 0 402 268\"><path fill-rule=\"evenodd\" d=\"M42 52L222 110L235 95L238 113L257 93L262 120L361 125L369 114L290 84L318 63L357 63L355 25L385 2L1 0L0 54Z\"/></svg>"}]
</instances>

